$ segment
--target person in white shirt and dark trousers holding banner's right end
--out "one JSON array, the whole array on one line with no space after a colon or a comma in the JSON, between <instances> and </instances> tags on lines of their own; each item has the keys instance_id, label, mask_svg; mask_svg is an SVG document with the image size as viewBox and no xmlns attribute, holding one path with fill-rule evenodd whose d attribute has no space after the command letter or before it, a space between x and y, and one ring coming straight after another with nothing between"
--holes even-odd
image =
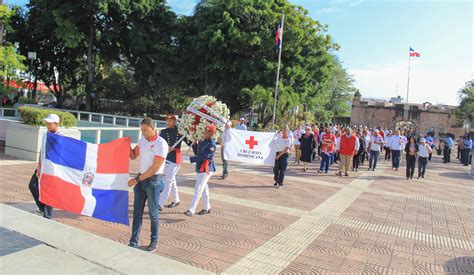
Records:
<instances>
[{"instance_id":1,"label":"person in white shirt and dark trousers holding banner's right end","mask_svg":"<svg viewBox=\"0 0 474 275\"><path fill-rule=\"evenodd\" d=\"M273 179L275 183L273 186L281 188L283 180L285 179L286 168L288 167L288 152L291 147L291 140L288 137L288 130L283 130L281 135L278 135L275 140L276 143L276 157L275 166L273 166Z\"/></svg>"}]
</instances>

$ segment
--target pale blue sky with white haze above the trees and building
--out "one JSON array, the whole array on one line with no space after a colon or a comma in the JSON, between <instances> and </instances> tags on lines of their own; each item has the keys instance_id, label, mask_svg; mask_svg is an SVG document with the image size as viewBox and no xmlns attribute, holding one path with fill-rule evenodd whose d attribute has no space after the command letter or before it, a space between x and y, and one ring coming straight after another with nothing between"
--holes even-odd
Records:
<instances>
[{"instance_id":1,"label":"pale blue sky with white haze above the trees and building","mask_svg":"<svg viewBox=\"0 0 474 275\"><path fill-rule=\"evenodd\" d=\"M26 2L7 0L9 4ZM196 2L168 0L176 13L186 15L192 13ZM473 78L472 1L290 2L329 25L329 33L341 46L336 54L365 97L406 97L410 46L421 53L421 58L411 63L410 102L456 105L457 91ZM284 41L283 37L283 47Z\"/></svg>"}]
</instances>

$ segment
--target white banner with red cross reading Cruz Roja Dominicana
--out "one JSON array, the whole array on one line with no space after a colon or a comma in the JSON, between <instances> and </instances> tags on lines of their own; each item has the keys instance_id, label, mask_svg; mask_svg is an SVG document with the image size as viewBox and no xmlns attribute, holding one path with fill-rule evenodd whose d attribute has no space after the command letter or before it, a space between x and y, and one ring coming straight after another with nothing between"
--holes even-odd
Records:
<instances>
[{"instance_id":1,"label":"white banner with red cross reading Cruz Roja Dominicana","mask_svg":"<svg viewBox=\"0 0 474 275\"><path fill-rule=\"evenodd\" d=\"M276 133L227 129L223 134L224 159L244 163L273 165Z\"/></svg>"}]
</instances>

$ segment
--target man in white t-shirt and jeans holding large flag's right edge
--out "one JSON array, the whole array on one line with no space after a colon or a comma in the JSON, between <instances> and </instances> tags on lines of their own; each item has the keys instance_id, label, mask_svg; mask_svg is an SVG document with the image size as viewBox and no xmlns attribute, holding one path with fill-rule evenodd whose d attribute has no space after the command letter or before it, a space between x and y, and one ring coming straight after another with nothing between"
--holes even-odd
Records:
<instances>
[{"instance_id":1,"label":"man in white t-shirt and jeans holding large flag's right edge","mask_svg":"<svg viewBox=\"0 0 474 275\"><path fill-rule=\"evenodd\" d=\"M153 120L144 118L140 128L143 135L138 141L138 145L130 149L131 159L140 158L140 172L135 178L128 181L128 186L134 186L133 225L129 246L138 246L143 210L145 202L148 200L151 236L147 250L153 252L158 244L158 201L160 193L163 191L163 172L169 149L166 140L158 135Z\"/></svg>"}]
</instances>

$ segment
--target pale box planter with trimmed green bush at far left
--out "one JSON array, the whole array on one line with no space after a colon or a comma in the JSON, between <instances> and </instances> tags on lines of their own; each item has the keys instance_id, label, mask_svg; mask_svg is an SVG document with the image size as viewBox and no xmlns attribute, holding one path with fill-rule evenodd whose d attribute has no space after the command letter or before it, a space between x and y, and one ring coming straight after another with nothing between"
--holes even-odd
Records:
<instances>
[{"instance_id":1,"label":"pale box planter with trimmed green bush at far left","mask_svg":"<svg viewBox=\"0 0 474 275\"><path fill-rule=\"evenodd\" d=\"M12 123L7 127L5 143L7 155L37 161L43 136L47 132L44 118L48 114L57 114L60 117L61 132L65 136L81 138L81 132L75 128L77 120L71 113L30 106L22 106L18 110L20 123Z\"/></svg>"}]
</instances>

